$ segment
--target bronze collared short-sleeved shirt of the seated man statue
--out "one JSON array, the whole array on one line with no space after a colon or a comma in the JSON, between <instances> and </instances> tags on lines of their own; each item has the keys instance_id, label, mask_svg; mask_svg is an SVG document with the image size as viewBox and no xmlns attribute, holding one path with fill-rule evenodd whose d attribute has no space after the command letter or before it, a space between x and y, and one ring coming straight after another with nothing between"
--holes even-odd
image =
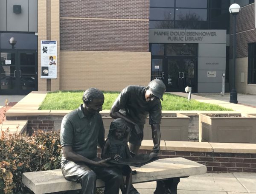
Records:
<instances>
[{"instance_id":1,"label":"bronze collared short-sleeved shirt of the seated man statue","mask_svg":"<svg viewBox=\"0 0 256 194\"><path fill-rule=\"evenodd\" d=\"M92 160L97 157L98 141L104 141L102 117L84 116L82 105L65 115L61 122L61 147L72 146L74 152Z\"/></svg>"}]
</instances>

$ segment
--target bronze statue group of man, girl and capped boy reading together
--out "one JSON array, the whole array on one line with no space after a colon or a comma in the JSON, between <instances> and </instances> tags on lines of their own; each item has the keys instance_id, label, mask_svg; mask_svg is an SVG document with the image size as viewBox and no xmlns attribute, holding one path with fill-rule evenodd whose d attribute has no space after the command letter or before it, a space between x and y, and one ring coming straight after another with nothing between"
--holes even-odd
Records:
<instances>
[{"instance_id":1,"label":"bronze statue group of man, girl and capped boy reading together","mask_svg":"<svg viewBox=\"0 0 256 194\"><path fill-rule=\"evenodd\" d=\"M136 160L140 160L140 164L147 163L160 151L160 99L163 100L165 90L165 84L158 79L152 80L147 87L125 87L111 108L110 115L115 120L106 141L99 114L104 95L96 88L86 90L83 104L65 115L61 123L64 177L80 183L82 194L95 194L96 178L105 182L104 194L119 194L119 189L122 194L139 194L132 186L132 171L128 165ZM154 147L150 155L140 157L137 154L148 114ZM102 158L97 157L97 146L102 148Z\"/></svg>"}]
</instances>

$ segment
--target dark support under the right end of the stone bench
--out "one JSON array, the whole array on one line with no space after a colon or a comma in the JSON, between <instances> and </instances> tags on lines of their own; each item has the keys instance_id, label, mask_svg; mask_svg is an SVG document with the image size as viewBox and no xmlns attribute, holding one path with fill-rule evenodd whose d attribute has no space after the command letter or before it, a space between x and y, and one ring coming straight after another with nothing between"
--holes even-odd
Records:
<instances>
[{"instance_id":1,"label":"dark support under the right end of the stone bench","mask_svg":"<svg viewBox=\"0 0 256 194\"><path fill-rule=\"evenodd\" d=\"M157 181L157 188L154 194L177 194L177 185L179 182L180 177L159 180Z\"/></svg>"}]
</instances>

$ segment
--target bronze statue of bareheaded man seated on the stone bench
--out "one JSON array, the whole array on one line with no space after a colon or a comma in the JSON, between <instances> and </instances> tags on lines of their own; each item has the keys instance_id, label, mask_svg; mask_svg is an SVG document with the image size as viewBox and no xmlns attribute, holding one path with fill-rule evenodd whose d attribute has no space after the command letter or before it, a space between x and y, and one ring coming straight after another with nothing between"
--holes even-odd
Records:
<instances>
[{"instance_id":1,"label":"bronze statue of bareheaded man seated on the stone bench","mask_svg":"<svg viewBox=\"0 0 256 194\"><path fill-rule=\"evenodd\" d=\"M97 157L104 144L104 127L99 111L104 95L96 88L84 92L83 104L64 116L61 123L61 171L67 180L80 183L82 194L95 194L96 176L105 181L104 194L118 194L122 172L110 167L111 158Z\"/></svg>"}]
</instances>

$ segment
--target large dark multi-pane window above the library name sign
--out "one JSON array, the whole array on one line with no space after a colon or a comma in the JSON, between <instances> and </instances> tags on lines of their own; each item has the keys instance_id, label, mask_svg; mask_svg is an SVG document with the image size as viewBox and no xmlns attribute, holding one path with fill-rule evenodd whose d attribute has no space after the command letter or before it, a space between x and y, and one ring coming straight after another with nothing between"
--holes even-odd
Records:
<instances>
[{"instance_id":1,"label":"large dark multi-pane window above the library name sign","mask_svg":"<svg viewBox=\"0 0 256 194\"><path fill-rule=\"evenodd\" d=\"M229 6L230 0L150 0L149 28L226 29L229 34Z\"/></svg>"}]
</instances>

